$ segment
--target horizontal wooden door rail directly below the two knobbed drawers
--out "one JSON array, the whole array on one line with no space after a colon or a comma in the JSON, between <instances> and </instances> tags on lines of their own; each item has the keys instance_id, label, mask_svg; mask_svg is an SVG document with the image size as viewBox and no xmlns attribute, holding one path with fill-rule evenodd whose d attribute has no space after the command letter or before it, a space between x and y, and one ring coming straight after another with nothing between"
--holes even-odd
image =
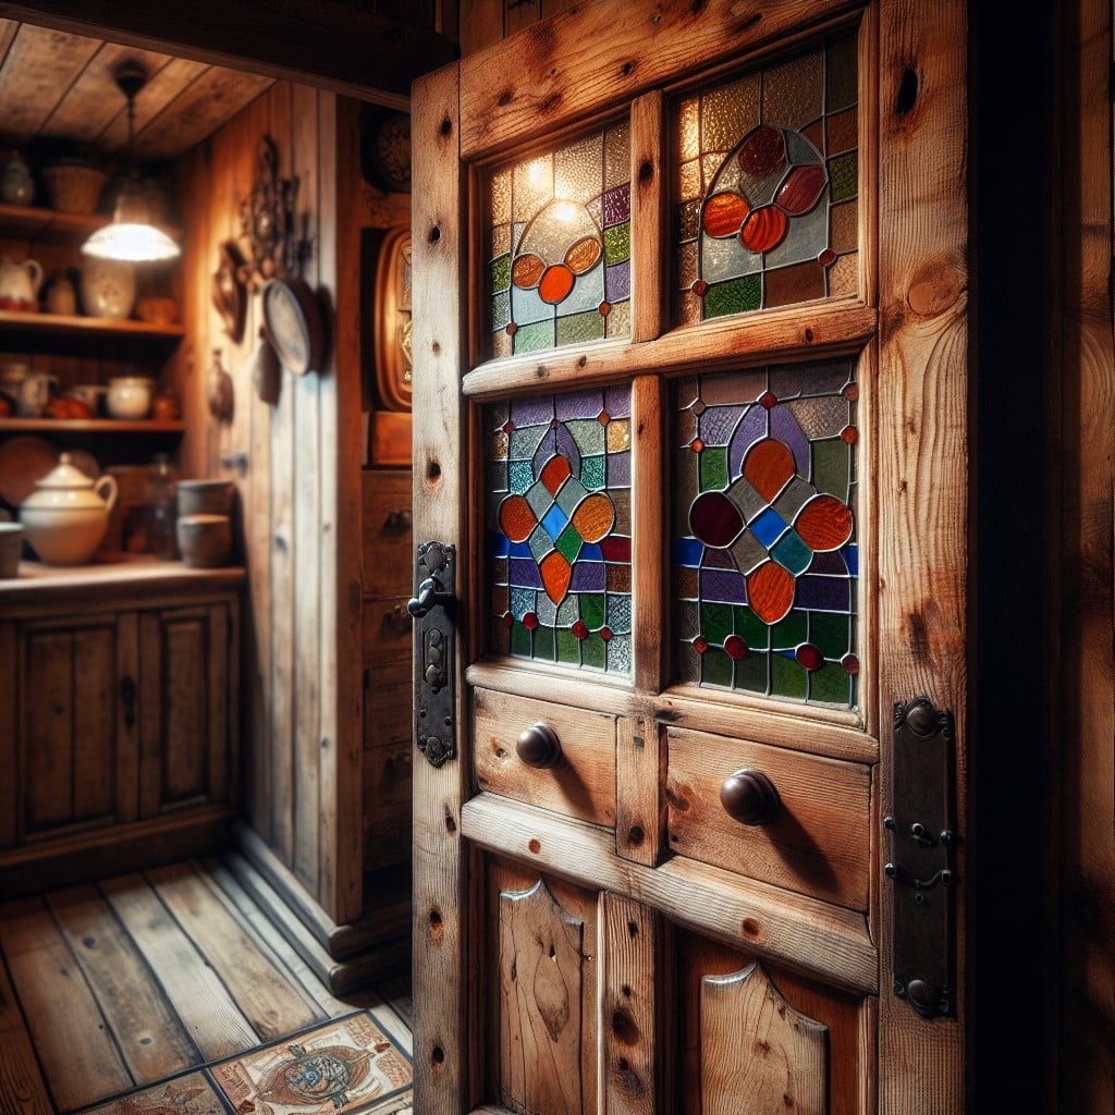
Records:
<instances>
[{"instance_id":1,"label":"horizontal wooden door rail directly below the two knobbed drawers","mask_svg":"<svg viewBox=\"0 0 1115 1115\"><path fill-rule=\"evenodd\" d=\"M486 794L466 803L462 822L471 841L540 871L626 894L677 924L745 942L843 987L878 990L862 914L681 857L658 869L631 863L615 854L608 832Z\"/></svg>"}]
</instances>

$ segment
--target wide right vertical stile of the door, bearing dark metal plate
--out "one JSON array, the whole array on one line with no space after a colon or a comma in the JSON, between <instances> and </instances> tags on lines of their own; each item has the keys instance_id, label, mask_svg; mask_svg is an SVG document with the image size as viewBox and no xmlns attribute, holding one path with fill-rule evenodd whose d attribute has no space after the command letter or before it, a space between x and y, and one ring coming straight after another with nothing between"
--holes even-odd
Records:
<instances>
[{"instance_id":1,"label":"wide right vertical stile of the door, bearing dark metal plate","mask_svg":"<svg viewBox=\"0 0 1115 1115\"><path fill-rule=\"evenodd\" d=\"M968 724L968 127L963 2L888 4L880 13L880 365L876 414L880 720L894 768L889 710L924 695L957 726L956 798L966 801ZM923 416L931 421L924 425ZM880 805L893 807L890 777ZM961 805L961 808L963 806ZM963 940L960 815L956 940ZM876 875L876 879L879 876ZM894 919L880 880L880 1111L963 1111L964 979L954 1017L927 1022L890 988Z\"/></svg>"}]
</instances>

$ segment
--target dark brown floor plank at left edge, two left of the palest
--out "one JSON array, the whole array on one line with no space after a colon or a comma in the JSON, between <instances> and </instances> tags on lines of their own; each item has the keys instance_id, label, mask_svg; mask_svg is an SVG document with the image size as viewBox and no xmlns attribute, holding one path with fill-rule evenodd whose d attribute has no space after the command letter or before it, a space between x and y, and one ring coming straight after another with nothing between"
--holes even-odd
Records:
<instances>
[{"instance_id":1,"label":"dark brown floor plank at left edge, two left of the palest","mask_svg":"<svg viewBox=\"0 0 1115 1115\"><path fill-rule=\"evenodd\" d=\"M129 1088L132 1076L40 899L0 906L0 944L56 1107L69 1111Z\"/></svg>"}]
</instances>

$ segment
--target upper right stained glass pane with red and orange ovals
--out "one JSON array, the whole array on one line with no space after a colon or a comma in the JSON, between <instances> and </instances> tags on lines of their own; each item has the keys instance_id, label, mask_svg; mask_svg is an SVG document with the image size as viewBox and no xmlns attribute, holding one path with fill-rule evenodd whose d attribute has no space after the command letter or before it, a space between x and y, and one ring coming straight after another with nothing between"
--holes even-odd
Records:
<instances>
[{"instance_id":1,"label":"upper right stained glass pane with red and orange ovals","mask_svg":"<svg viewBox=\"0 0 1115 1115\"><path fill-rule=\"evenodd\" d=\"M853 36L685 98L677 128L679 323L855 292Z\"/></svg>"}]
</instances>

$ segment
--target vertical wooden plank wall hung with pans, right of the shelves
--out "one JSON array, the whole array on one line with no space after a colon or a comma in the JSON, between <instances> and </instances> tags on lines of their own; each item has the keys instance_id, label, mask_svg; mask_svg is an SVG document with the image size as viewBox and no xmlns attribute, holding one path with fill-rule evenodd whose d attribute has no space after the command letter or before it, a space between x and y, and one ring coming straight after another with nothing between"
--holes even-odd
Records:
<instances>
[{"instance_id":1,"label":"vertical wooden plank wall hung with pans, right of the shelves","mask_svg":"<svg viewBox=\"0 0 1115 1115\"><path fill-rule=\"evenodd\" d=\"M187 425L180 475L231 477L239 493L237 539L249 572L245 811L309 894L345 922L361 904L359 856L337 849L338 841L358 846L338 822L351 824L360 807L359 675L355 695L339 688L353 688L353 671L338 675L339 662L360 655L358 627L342 614L351 597L339 585L359 575L358 523L340 513L359 505L359 382L350 366L338 375L333 345L320 375L284 371L278 404L263 403L251 382L259 297L249 295L237 343L210 298L219 248L240 232L240 202L260 176L261 140L270 135L280 174L299 180L295 225L309 241L303 277L323 293L332 323L337 112L333 94L278 83L177 164L187 337L174 378ZM227 423L206 406L214 350L233 380Z\"/></svg>"}]
</instances>

